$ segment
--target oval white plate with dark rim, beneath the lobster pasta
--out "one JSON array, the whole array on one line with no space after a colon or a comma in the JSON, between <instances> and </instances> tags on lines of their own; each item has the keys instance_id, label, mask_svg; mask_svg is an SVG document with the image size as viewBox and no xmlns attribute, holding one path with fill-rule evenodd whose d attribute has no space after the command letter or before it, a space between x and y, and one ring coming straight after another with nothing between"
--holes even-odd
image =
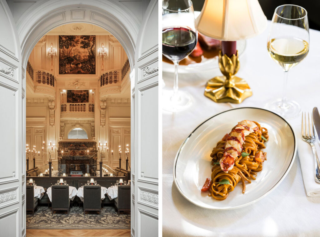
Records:
<instances>
[{"instance_id":1,"label":"oval white plate with dark rim, beneath the lobster pasta","mask_svg":"<svg viewBox=\"0 0 320 237\"><path fill-rule=\"evenodd\" d=\"M268 129L267 160L256 180L229 193L225 200L217 201L201 192L206 178L211 177L212 148L242 120L253 120ZM187 200L207 209L234 209L258 201L275 189L288 174L297 151L293 129L281 116L261 108L235 108L214 115L200 124L182 143L173 167L174 183Z\"/></svg>"}]
</instances>

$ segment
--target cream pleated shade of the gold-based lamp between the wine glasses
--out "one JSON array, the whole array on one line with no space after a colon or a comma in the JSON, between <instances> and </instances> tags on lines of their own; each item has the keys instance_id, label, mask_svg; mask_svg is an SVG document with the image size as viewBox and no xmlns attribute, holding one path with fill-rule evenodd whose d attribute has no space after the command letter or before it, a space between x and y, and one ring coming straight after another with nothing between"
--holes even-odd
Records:
<instances>
[{"instance_id":1,"label":"cream pleated shade of the gold-based lamp between the wine glasses","mask_svg":"<svg viewBox=\"0 0 320 237\"><path fill-rule=\"evenodd\" d=\"M244 40L267 27L258 0L205 0L196 22L200 33L223 41Z\"/></svg>"}]
</instances>

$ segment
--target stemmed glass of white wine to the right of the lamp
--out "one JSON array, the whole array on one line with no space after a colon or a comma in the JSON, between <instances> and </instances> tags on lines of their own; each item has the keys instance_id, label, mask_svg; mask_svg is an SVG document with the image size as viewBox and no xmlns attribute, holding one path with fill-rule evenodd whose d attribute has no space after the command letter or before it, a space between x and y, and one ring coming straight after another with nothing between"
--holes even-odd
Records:
<instances>
[{"instance_id":1,"label":"stemmed glass of white wine to the right of the lamp","mask_svg":"<svg viewBox=\"0 0 320 237\"><path fill-rule=\"evenodd\" d=\"M273 14L268 35L268 52L284 70L283 98L270 101L266 108L290 119L300 114L300 105L287 100L288 71L300 63L309 51L307 11L297 5L278 6Z\"/></svg>"}]
</instances>

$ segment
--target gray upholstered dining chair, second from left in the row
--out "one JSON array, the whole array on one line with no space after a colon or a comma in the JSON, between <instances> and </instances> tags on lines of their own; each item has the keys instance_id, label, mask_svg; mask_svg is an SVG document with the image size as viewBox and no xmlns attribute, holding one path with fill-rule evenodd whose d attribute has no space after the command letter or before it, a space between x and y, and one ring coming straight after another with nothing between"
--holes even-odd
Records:
<instances>
[{"instance_id":1,"label":"gray upholstered dining chair, second from left in the row","mask_svg":"<svg viewBox=\"0 0 320 237\"><path fill-rule=\"evenodd\" d=\"M53 211L68 211L70 207L69 185L56 184L51 186L52 189L52 215Z\"/></svg>"}]
</instances>

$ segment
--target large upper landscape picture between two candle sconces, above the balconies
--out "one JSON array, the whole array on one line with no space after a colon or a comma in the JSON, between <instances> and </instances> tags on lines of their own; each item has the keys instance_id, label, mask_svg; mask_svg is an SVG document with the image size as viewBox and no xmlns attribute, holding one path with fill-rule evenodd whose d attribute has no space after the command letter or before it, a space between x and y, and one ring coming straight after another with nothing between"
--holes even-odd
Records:
<instances>
[{"instance_id":1,"label":"large upper landscape picture between two candle sconces, above the balconies","mask_svg":"<svg viewBox=\"0 0 320 237\"><path fill-rule=\"evenodd\" d=\"M96 74L95 47L95 35L59 35L59 74Z\"/></svg>"}]
</instances>

